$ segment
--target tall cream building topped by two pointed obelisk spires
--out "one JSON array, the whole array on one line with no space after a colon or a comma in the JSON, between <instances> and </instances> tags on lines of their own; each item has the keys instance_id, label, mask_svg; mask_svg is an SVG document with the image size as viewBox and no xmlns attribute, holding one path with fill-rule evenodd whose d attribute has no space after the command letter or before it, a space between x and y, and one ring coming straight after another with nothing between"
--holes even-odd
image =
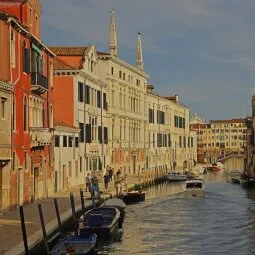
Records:
<instances>
[{"instance_id":1,"label":"tall cream building topped by two pointed obelisk spires","mask_svg":"<svg viewBox=\"0 0 255 255\"><path fill-rule=\"evenodd\" d=\"M99 76L108 87L109 165L116 172L135 174L145 168L146 88L141 35L137 40L137 67L118 57L114 12L110 22L110 54L98 52Z\"/></svg>"}]
</instances>

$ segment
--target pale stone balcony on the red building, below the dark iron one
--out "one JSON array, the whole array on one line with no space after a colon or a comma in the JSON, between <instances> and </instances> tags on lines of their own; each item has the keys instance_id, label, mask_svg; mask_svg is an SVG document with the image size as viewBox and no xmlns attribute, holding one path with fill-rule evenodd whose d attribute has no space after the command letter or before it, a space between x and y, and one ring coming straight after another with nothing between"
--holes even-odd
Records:
<instances>
[{"instance_id":1,"label":"pale stone balcony on the red building, below the dark iron one","mask_svg":"<svg viewBox=\"0 0 255 255\"><path fill-rule=\"evenodd\" d=\"M30 128L30 146L38 147L50 145L52 141L52 133L49 128L33 127Z\"/></svg>"}]
</instances>

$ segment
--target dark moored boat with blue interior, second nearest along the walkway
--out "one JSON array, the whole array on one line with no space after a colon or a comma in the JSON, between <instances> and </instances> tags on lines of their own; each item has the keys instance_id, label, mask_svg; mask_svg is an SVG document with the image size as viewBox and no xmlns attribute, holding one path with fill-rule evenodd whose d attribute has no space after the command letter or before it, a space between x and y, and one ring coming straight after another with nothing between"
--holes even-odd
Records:
<instances>
[{"instance_id":1,"label":"dark moored boat with blue interior, second nearest along the walkway","mask_svg":"<svg viewBox=\"0 0 255 255\"><path fill-rule=\"evenodd\" d=\"M84 234L96 233L99 238L108 239L119 228L120 210L115 207L98 207L80 217L79 231Z\"/></svg>"}]
</instances>

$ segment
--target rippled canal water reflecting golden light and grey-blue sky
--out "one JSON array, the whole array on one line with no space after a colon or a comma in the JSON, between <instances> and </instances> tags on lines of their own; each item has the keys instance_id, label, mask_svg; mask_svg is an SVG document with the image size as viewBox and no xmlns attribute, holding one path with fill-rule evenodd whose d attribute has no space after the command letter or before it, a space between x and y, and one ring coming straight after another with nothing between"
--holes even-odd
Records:
<instances>
[{"instance_id":1,"label":"rippled canal water reflecting golden light and grey-blue sky","mask_svg":"<svg viewBox=\"0 0 255 255\"><path fill-rule=\"evenodd\" d=\"M255 190L231 184L223 171L208 173L205 185L203 198L183 197L179 183L150 188L98 254L254 255Z\"/></svg>"}]
</instances>

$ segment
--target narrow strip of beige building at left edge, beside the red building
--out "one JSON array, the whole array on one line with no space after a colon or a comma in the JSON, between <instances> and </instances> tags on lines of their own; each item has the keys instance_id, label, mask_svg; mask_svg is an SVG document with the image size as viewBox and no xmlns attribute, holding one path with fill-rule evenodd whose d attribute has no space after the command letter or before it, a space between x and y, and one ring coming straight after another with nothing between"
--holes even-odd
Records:
<instances>
[{"instance_id":1,"label":"narrow strip of beige building at left edge, beside the red building","mask_svg":"<svg viewBox=\"0 0 255 255\"><path fill-rule=\"evenodd\" d=\"M12 86L0 80L0 212L8 209L11 172Z\"/></svg>"}]
</instances>

